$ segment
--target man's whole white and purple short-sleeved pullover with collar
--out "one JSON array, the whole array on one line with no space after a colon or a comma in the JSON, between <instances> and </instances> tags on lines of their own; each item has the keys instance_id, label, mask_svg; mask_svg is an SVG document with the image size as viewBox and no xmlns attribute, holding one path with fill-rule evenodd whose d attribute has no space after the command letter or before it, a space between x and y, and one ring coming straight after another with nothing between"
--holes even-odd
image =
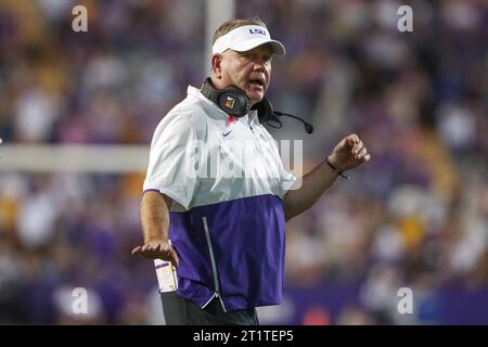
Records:
<instances>
[{"instance_id":1,"label":"man's whole white and purple short-sleeved pullover with collar","mask_svg":"<svg viewBox=\"0 0 488 347\"><path fill-rule=\"evenodd\" d=\"M280 304L294 181L255 111L234 120L189 87L155 130L143 187L174 200L177 294L202 308L218 297L226 311Z\"/></svg>"}]
</instances>

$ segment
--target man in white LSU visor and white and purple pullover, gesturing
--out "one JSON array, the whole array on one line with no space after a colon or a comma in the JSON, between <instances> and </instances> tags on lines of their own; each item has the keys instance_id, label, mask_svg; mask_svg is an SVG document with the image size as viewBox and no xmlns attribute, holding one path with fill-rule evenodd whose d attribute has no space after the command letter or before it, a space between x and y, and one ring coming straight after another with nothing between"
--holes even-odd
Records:
<instances>
[{"instance_id":1,"label":"man in white LSU visor and white and purple pullover, gesturing","mask_svg":"<svg viewBox=\"0 0 488 347\"><path fill-rule=\"evenodd\" d=\"M156 273L167 324L258 324L255 308L282 300L285 222L370 159L350 134L301 180L284 169L265 128L271 60L284 53L259 18L223 23L210 77L154 132L144 245L132 253L164 260Z\"/></svg>"}]
</instances>

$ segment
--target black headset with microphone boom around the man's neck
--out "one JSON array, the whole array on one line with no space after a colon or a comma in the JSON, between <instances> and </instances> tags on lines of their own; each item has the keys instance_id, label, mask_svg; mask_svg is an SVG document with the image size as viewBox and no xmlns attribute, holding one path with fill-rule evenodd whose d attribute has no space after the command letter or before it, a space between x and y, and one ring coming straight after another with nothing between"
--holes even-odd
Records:
<instances>
[{"instance_id":1,"label":"black headset with microphone boom around the man's neck","mask_svg":"<svg viewBox=\"0 0 488 347\"><path fill-rule=\"evenodd\" d=\"M235 86L230 86L223 89L216 89L210 78L206 78L201 88L202 94L204 94L208 100L214 102L220 110L222 110L228 115L234 117L244 117L251 110L256 110L258 113L258 119L260 124L266 124L274 129L281 129L283 124L279 117L285 116L295 118L301 121L305 126L305 132L312 133L313 126L298 116L291 115L287 113L273 111L273 107L267 98L253 106L251 106L251 100L247 98L244 91Z\"/></svg>"}]
</instances>

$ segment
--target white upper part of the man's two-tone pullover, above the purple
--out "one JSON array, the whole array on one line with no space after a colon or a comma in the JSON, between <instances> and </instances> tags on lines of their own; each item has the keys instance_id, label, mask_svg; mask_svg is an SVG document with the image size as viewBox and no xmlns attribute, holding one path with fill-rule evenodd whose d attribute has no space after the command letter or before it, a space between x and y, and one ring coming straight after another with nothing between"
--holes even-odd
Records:
<instances>
[{"instance_id":1,"label":"white upper part of the man's two-tone pullover, above the purple","mask_svg":"<svg viewBox=\"0 0 488 347\"><path fill-rule=\"evenodd\" d=\"M154 132L143 190L171 197L171 211L264 194L282 198L296 178L283 168L277 142L256 111L234 119L189 86Z\"/></svg>"}]
</instances>

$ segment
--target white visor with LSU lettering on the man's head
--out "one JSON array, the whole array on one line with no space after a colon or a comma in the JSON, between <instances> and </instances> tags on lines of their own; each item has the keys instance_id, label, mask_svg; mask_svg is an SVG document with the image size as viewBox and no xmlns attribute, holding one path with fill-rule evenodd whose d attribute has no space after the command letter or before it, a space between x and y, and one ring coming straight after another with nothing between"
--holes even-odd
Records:
<instances>
[{"instance_id":1,"label":"white visor with LSU lettering on the man's head","mask_svg":"<svg viewBox=\"0 0 488 347\"><path fill-rule=\"evenodd\" d=\"M274 54L284 55L284 46L272 40L268 29L259 25L240 26L230 30L215 41L211 52L222 54L228 49L245 52L265 43L271 44Z\"/></svg>"}]
</instances>

